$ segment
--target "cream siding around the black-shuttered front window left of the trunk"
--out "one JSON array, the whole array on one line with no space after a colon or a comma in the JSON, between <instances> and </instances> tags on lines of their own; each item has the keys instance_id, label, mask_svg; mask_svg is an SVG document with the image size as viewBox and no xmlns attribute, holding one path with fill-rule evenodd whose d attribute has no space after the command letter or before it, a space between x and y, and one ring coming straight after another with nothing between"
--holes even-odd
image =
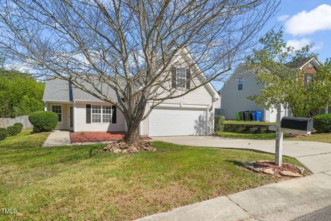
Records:
<instances>
[{"instance_id":1,"label":"cream siding around the black-shuttered front window left of the trunk","mask_svg":"<svg viewBox=\"0 0 331 221\"><path fill-rule=\"evenodd\" d=\"M76 104L76 131L124 131L123 113L117 109L117 123L91 123L86 124L86 104L111 105L106 102L80 102Z\"/></svg>"}]
</instances>

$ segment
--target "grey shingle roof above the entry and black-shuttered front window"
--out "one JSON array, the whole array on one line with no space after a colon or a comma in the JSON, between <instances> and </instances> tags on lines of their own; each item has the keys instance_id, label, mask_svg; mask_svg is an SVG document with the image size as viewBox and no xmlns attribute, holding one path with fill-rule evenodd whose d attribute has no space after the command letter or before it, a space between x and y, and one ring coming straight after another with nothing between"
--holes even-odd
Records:
<instances>
[{"instance_id":1,"label":"grey shingle roof above the entry and black-shuttered front window","mask_svg":"<svg viewBox=\"0 0 331 221\"><path fill-rule=\"evenodd\" d=\"M102 91L103 95L111 97L117 102L115 91L108 84L103 84L100 81L94 82L97 88ZM82 81L81 85L85 88L90 88L93 93L97 93L92 84ZM66 79L51 78L46 81L45 90L43 93L44 102L73 102L73 101L90 101L101 102L102 100L87 93L79 88L72 86L71 82Z\"/></svg>"}]
</instances>

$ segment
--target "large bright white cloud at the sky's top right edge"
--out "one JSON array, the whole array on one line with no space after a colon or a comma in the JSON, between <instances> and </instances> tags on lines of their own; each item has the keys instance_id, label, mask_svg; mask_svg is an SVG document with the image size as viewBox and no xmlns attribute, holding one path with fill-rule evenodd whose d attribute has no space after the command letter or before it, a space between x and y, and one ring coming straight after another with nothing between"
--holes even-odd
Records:
<instances>
[{"instance_id":1,"label":"large bright white cloud at the sky's top right edge","mask_svg":"<svg viewBox=\"0 0 331 221\"><path fill-rule=\"evenodd\" d=\"M293 15L285 23L285 32L292 35L312 34L319 30L331 30L331 6L323 4L307 12Z\"/></svg>"}]
</instances>

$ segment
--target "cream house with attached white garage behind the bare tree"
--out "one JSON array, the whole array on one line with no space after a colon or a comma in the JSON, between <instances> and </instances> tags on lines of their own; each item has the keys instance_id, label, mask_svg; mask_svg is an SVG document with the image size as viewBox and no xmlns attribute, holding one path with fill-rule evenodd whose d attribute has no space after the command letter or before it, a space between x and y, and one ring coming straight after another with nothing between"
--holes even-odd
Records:
<instances>
[{"instance_id":1,"label":"cream house with attached white garage behind the bare tree","mask_svg":"<svg viewBox=\"0 0 331 221\"><path fill-rule=\"evenodd\" d=\"M187 53L182 56L187 56ZM186 77L187 73L188 70L176 67L177 84L181 84L182 78ZM199 81L201 79L192 79L192 84L199 84ZM108 93L108 96L117 100L112 89L100 82L99 84L100 88ZM219 94L214 87L211 84L205 84L182 97L165 100L141 122L140 135L170 136L211 133L214 127L214 102L217 102L218 99ZM45 111L52 111L59 116L57 129L74 132L126 131L123 113L116 106L75 88L69 81L59 78L48 79L43 102ZM151 102L148 103L146 113L151 104Z\"/></svg>"}]
</instances>

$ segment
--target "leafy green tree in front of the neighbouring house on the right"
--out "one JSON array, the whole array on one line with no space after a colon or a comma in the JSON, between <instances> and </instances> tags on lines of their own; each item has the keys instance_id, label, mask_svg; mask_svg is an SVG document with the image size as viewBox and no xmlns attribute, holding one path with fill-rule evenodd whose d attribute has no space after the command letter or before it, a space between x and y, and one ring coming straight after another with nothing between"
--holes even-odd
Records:
<instances>
[{"instance_id":1,"label":"leafy green tree in front of the neighbouring house on the right","mask_svg":"<svg viewBox=\"0 0 331 221\"><path fill-rule=\"evenodd\" d=\"M284 104L295 117L307 117L330 104L330 60L319 66L308 84L305 81L306 73L290 64L317 57L317 54L310 52L312 45L294 50L286 45L283 33L274 30L260 39L260 43L263 48L254 50L253 56L248 57L246 66L256 73L258 83L265 84L266 87L261 90L261 95L252 95L249 99L265 108Z\"/></svg>"}]
</instances>

